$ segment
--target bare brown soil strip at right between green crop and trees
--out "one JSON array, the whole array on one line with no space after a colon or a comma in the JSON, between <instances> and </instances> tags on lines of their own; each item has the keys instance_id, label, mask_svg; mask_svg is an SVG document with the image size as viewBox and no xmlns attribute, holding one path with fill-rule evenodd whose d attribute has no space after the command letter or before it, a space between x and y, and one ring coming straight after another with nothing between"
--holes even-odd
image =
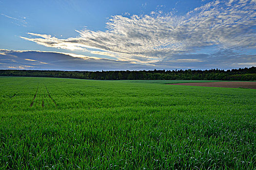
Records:
<instances>
[{"instance_id":1,"label":"bare brown soil strip at right between green crop and trees","mask_svg":"<svg viewBox=\"0 0 256 170\"><path fill-rule=\"evenodd\" d=\"M256 89L256 82L206 82L206 83L175 83L168 85L192 85L205 87L230 87L230 88L252 88Z\"/></svg>"}]
</instances>

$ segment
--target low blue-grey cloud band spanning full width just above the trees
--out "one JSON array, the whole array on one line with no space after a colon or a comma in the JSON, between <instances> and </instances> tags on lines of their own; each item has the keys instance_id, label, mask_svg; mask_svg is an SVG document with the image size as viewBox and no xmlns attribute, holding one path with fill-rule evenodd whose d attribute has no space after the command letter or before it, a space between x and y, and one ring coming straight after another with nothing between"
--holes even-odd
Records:
<instances>
[{"instance_id":1,"label":"low blue-grey cloud band spanning full width just above the trees","mask_svg":"<svg viewBox=\"0 0 256 170\"><path fill-rule=\"evenodd\" d=\"M141 62L137 62L140 60ZM149 69L231 69L255 66L256 55L245 55L231 50L212 54L174 54L162 60L134 59L110 60L55 51L0 50L0 69L9 67L23 69L55 70L149 70ZM20 68L19 68L20 69Z\"/></svg>"}]
</instances>

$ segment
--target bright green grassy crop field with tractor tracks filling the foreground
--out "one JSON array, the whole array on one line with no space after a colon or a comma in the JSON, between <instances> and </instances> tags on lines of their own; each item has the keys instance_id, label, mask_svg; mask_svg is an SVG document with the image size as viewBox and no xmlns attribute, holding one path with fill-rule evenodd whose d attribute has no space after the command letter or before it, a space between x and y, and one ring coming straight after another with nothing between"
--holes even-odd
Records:
<instances>
[{"instance_id":1,"label":"bright green grassy crop field with tractor tracks filling the foreground","mask_svg":"<svg viewBox=\"0 0 256 170\"><path fill-rule=\"evenodd\" d=\"M253 170L255 144L255 89L0 78L3 170Z\"/></svg>"}]
</instances>

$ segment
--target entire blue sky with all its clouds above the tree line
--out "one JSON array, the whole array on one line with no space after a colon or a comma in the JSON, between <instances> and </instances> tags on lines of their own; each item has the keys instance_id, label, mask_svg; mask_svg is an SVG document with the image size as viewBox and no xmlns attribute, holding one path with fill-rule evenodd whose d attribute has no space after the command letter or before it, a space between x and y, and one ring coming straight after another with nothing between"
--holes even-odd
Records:
<instances>
[{"instance_id":1,"label":"entire blue sky with all its clouds above the tree line","mask_svg":"<svg viewBox=\"0 0 256 170\"><path fill-rule=\"evenodd\" d=\"M256 66L256 0L0 0L0 69Z\"/></svg>"}]
</instances>

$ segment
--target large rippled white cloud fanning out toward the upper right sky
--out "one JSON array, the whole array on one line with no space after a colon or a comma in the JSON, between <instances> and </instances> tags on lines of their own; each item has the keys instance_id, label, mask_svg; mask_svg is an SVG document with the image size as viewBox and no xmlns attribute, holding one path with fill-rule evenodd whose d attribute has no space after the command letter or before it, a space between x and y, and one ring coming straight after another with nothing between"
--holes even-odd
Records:
<instances>
[{"instance_id":1,"label":"large rippled white cloud fanning out toward the upper right sky","mask_svg":"<svg viewBox=\"0 0 256 170\"><path fill-rule=\"evenodd\" d=\"M78 37L67 39L35 33L21 38L46 47L98 49L101 51L91 53L140 63L212 45L219 49L255 48L256 0L215 0L181 17L155 12L151 16L117 15L106 25L107 31L85 29L77 31Z\"/></svg>"}]
</instances>

